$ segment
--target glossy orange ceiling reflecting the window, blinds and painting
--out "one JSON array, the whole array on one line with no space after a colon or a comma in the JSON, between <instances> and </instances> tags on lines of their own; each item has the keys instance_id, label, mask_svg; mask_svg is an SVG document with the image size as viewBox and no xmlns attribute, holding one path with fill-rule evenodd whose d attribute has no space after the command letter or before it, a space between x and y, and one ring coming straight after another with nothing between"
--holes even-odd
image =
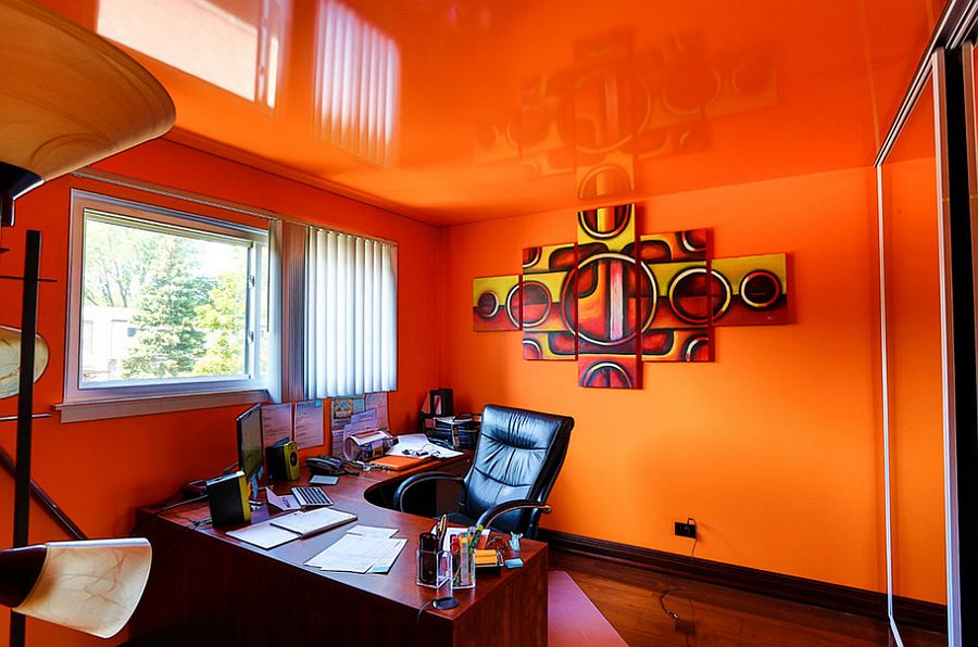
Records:
<instances>
[{"instance_id":1,"label":"glossy orange ceiling reflecting the window, blinds and painting","mask_svg":"<svg viewBox=\"0 0 978 647\"><path fill-rule=\"evenodd\" d=\"M943 7L45 3L172 56L129 49L174 98L172 139L434 224L869 165Z\"/></svg>"}]
</instances>

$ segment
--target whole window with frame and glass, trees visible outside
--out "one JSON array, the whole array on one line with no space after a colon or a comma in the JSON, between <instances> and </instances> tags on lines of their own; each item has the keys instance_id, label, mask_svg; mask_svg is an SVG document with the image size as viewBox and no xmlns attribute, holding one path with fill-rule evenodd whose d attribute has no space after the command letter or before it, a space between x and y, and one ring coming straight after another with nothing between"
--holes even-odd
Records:
<instances>
[{"instance_id":1,"label":"whole window with frame and glass, trees visible outside","mask_svg":"<svg viewBox=\"0 0 978 647\"><path fill-rule=\"evenodd\" d=\"M65 405L264 389L266 231L83 191L72 205Z\"/></svg>"}]
</instances>

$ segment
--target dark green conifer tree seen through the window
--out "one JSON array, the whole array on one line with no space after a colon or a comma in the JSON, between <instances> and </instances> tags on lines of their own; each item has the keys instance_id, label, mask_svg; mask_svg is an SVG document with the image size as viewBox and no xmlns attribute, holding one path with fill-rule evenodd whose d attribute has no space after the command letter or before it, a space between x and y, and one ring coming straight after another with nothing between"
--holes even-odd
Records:
<instances>
[{"instance_id":1,"label":"dark green conifer tree seen through the window","mask_svg":"<svg viewBox=\"0 0 978 647\"><path fill-rule=\"evenodd\" d=\"M197 308L206 303L214 280L197 276L192 252L192 241L159 238L131 319L139 331L123 359L123 378L190 376L204 356L206 334L198 327Z\"/></svg>"}]
</instances>

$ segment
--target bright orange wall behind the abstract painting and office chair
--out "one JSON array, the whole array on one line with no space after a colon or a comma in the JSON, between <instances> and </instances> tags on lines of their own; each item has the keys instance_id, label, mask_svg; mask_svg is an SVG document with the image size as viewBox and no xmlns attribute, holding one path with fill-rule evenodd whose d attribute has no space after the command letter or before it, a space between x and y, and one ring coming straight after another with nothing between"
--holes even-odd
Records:
<instances>
[{"instance_id":1,"label":"bright orange wall behind the abstract painting and office chair","mask_svg":"<svg viewBox=\"0 0 978 647\"><path fill-rule=\"evenodd\" d=\"M463 409L569 414L550 529L885 591L878 270L872 169L639 200L638 231L712 227L717 256L789 253L790 326L722 328L713 364L645 364L640 391L524 361L518 332L472 331L472 279L575 240L573 212L449 228L442 377Z\"/></svg>"}]
</instances>

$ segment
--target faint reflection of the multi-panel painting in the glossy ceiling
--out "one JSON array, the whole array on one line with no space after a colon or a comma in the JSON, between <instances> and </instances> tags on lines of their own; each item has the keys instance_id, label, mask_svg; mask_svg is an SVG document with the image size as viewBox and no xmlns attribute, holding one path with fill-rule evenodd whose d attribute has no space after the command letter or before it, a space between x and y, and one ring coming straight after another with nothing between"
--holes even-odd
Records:
<instances>
[{"instance_id":1,"label":"faint reflection of the multi-panel painting in the glossy ceiling","mask_svg":"<svg viewBox=\"0 0 978 647\"><path fill-rule=\"evenodd\" d=\"M637 47L634 29L575 43L573 64L528 77L518 109L479 125L477 162L568 174L582 201L644 193L642 164L711 148L711 123L777 103L763 58L707 53L698 36Z\"/></svg>"}]
</instances>

